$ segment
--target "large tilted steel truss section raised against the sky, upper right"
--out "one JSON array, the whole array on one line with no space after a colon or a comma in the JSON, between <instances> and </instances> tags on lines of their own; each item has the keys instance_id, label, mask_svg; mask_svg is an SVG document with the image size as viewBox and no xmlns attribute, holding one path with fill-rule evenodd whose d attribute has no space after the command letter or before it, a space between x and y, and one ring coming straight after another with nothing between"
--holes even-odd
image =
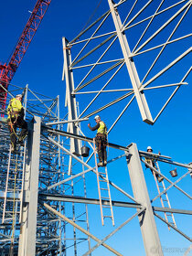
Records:
<instances>
[{"instance_id":1,"label":"large tilted steel truss section raised against the sky, upper right","mask_svg":"<svg viewBox=\"0 0 192 256\"><path fill-rule=\"evenodd\" d=\"M192 34L185 29L191 1L107 2L110 9L77 37L63 37L63 79L69 80L68 66L75 83L66 104L69 97L80 101L79 118L113 111L113 105L119 109L110 133L133 99L143 121L154 124L181 85L187 85Z\"/></svg>"}]
</instances>

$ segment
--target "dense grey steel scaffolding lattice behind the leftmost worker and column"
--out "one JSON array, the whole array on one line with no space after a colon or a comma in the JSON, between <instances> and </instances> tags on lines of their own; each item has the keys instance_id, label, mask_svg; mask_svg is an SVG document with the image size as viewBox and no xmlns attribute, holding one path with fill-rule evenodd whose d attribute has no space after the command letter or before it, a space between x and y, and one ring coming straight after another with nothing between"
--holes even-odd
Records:
<instances>
[{"instance_id":1,"label":"dense grey steel scaffolding lattice behind the leftmost worker and column","mask_svg":"<svg viewBox=\"0 0 192 256\"><path fill-rule=\"evenodd\" d=\"M19 244L19 229L25 229L25 211L27 210L28 190L31 185L28 179L32 179L29 175L29 162L31 158L31 149L27 144L31 143L31 134L33 133L34 118L39 117L41 124L57 123L59 119L59 96L56 99L46 97L42 94L31 91L28 86L21 88L15 85L10 85L10 90L7 93L7 103L9 100L18 93L23 93L26 112L26 120L28 123L28 141L25 146L16 147L16 154L10 152L10 139L7 124L5 122L6 112L1 121L1 253L0 255L8 255L10 248L13 255L17 255ZM64 124L56 124L55 128L62 129ZM53 125L52 125L53 127ZM43 128L42 128L43 130ZM19 131L17 131L19 133ZM40 135L39 141L39 173L38 173L38 192L44 191L59 180L64 179L68 174L68 155L60 150L56 145L50 143L47 138L47 131ZM49 134L49 136L58 143L69 147L69 139L60 138L59 135ZM36 149L37 150L37 149ZM35 153L35 152L34 152ZM36 154L36 153L35 153ZM73 164L75 165L75 163ZM37 164L38 169L38 164ZM72 167L72 170L74 168ZM38 172L38 171L37 171ZM74 172L74 173L73 173ZM71 175L75 174L75 169ZM82 196L86 197L86 183L85 176L80 176L80 180L76 182L76 186L81 187ZM73 181L60 185L52 191L54 194L65 194L74 196L75 188ZM76 222L83 222L84 228L89 230L88 209L85 205L84 208L77 210L74 203L66 206L65 202L51 202L51 207L65 214L69 219ZM74 255L77 255L77 246L81 242L88 242L90 238L82 237L77 234L76 229L70 229L65 221L60 218L54 217L48 210L46 210L40 202L37 204L37 240L36 240L36 255L66 255L66 251L72 248ZM68 235L69 233L69 235ZM13 246L12 246L13 245ZM21 250L21 248L19 249ZM21 252L20 252L21 253Z\"/></svg>"}]
</instances>

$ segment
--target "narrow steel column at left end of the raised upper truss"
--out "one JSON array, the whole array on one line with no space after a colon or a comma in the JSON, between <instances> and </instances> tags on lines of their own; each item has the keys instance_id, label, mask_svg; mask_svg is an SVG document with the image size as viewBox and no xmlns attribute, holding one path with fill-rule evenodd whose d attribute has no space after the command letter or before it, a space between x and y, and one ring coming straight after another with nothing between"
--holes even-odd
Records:
<instances>
[{"instance_id":1,"label":"narrow steel column at left end of the raised upper truss","mask_svg":"<svg viewBox=\"0 0 192 256\"><path fill-rule=\"evenodd\" d=\"M65 37L62 38L63 43L63 56L64 56L64 66L63 66L63 79L65 76L66 80L66 98L65 104L68 106L68 120L77 120L78 112L77 112L77 103L75 96L71 95L71 92L74 91L74 80L73 80L73 72L72 69L69 69L71 65L71 52L70 48L67 47L67 39ZM68 124L69 133L79 134L77 127L75 124ZM80 155L80 141L77 139L70 138L70 152L75 155Z\"/></svg>"}]
</instances>

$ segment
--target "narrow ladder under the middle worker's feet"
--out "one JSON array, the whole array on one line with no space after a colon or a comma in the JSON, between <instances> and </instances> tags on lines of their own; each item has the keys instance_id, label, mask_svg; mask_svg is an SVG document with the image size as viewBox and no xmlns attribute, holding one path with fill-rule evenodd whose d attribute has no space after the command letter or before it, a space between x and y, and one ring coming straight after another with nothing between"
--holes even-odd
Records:
<instances>
[{"instance_id":1,"label":"narrow ladder under the middle worker's feet","mask_svg":"<svg viewBox=\"0 0 192 256\"><path fill-rule=\"evenodd\" d=\"M114 217L112 210L112 197L110 192L110 184L108 178L107 166L100 167L101 171L97 166L97 153L95 146L95 139L93 139L94 145L94 158L97 174L97 184L98 184L98 193L100 199L100 209L101 209L101 223L104 226L104 219L112 219L112 226L114 226ZM105 204L104 200L107 200L109 204Z\"/></svg>"}]
</instances>

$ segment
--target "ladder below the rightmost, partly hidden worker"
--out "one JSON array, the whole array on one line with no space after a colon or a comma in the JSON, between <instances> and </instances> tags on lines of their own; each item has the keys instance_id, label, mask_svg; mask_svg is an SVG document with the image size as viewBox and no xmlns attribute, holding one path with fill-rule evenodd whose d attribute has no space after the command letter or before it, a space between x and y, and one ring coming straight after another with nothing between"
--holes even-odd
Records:
<instances>
[{"instance_id":1,"label":"ladder below the rightmost, partly hidden worker","mask_svg":"<svg viewBox=\"0 0 192 256\"><path fill-rule=\"evenodd\" d=\"M153 165L153 164L151 163L151 165ZM156 165L157 171L159 173L161 173L160 167L159 167L157 162L155 162L155 165ZM153 171L153 175L154 175L154 178L155 178L155 184L156 184L156 187L157 187L157 191L158 191L159 194L161 194L166 188L165 187L165 182L163 180L161 183L159 183L157 181L157 178L155 176L154 171ZM160 201L161 201L162 208L171 208L171 204L170 204L170 201L169 201L169 198L168 198L168 195L167 195L166 192L160 196ZM165 212L164 214L165 214L165 220L167 222L169 222L170 224L173 224L176 227L176 219L174 217L174 214L172 212L170 212L170 213ZM168 224L167 224L167 227L170 230L170 226Z\"/></svg>"}]
</instances>

